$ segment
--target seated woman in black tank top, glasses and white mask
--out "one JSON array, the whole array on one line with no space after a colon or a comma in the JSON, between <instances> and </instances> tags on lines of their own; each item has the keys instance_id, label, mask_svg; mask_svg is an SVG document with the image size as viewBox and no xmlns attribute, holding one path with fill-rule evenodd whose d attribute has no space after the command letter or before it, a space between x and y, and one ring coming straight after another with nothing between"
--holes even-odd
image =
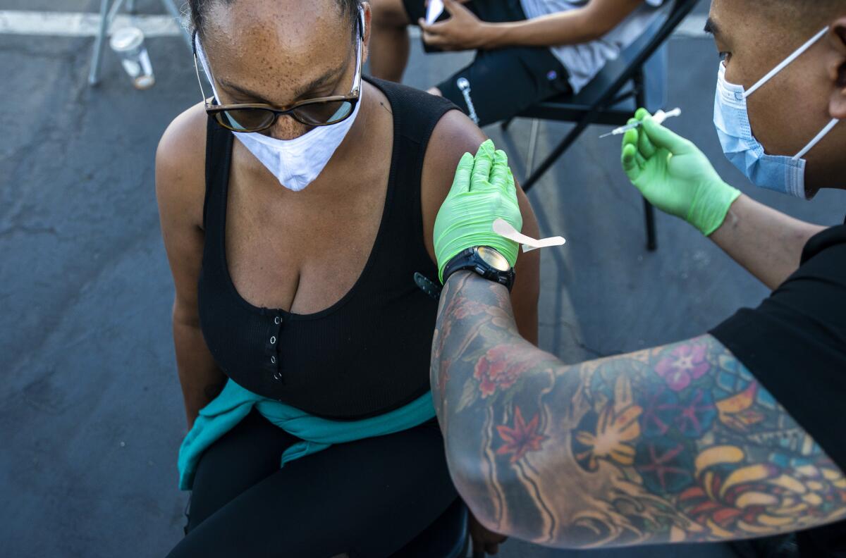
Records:
<instances>
[{"instance_id":1,"label":"seated woman in black tank top, glasses and white mask","mask_svg":"<svg viewBox=\"0 0 846 558\"><path fill-rule=\"evenodd\" d=\"M157 197L193 427L180 460L206 445L180 461L193 492L172 555L390 555L456 497L433 411L409 411L429 397L437 309L414 275L437 277L437 209L484 135L448 101L360 79L366 3L190 4L217 99L163 134ZM538 260L520 265L536 338ZM291 434L303 420L352 441L323 449Z\"/></svg>"}]
</instances>

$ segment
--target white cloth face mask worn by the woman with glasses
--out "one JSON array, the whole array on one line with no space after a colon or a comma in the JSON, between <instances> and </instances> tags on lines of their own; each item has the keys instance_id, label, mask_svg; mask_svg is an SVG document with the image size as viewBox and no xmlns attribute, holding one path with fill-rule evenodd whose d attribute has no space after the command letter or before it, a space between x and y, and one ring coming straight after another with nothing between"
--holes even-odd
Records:
<instances>
[{"instance_id":1,"label":"white cloth face mask worn by the woman with glasses","mask_svg":"<svg viewBox=\"0 0 846 558\"><path fill-rule=\"evenodd\" d=\"M361 25L363 25L363 22L361 22ZM355 68L356 76L360 75L361 47L360 35L358 60ZM199 37L196 39L196 50L203 71L206 72L206 76L211 83L211 90L219 103L220 96L217 95L206 53L203 52ZM329 159L338 149L338 145L341 145L349 129L352 128L361 106L361 94L364 92L360 84L358 88L359 101L355 103L353 113L348 118L337 124L316 126L299 138L275 139L258 132L233 132L233 134L277 178L280 184L287 189L294 190L294 192L299 192L299 190L305 189L306 186L314 182L317 176L323 172Z\"/></svg>"}]
</instances>

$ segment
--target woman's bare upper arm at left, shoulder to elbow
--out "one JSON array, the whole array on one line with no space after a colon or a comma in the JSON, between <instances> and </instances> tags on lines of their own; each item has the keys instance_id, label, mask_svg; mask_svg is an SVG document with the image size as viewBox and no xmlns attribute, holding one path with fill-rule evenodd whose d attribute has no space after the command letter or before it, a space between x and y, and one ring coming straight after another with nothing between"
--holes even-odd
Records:
<instances>
[{"instance_id":1,"label":"woman's bare upper arm at left, shoulder to elbow","mask_svg":"<svg viewBox=\"0 0 846 558\"><path fill-rule=\"evenodd\" d=\"M191 107L173 119L156 150L156 198L176 290L174 318L195 324L203 251L206 115Z\"/></svg>"}]
</instances>

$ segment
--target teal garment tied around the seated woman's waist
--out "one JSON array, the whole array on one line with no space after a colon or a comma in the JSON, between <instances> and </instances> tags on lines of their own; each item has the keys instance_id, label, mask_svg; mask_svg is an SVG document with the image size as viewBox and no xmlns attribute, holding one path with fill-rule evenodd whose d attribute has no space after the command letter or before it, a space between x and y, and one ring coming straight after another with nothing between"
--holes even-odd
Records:
<instances>
[{"instance_id":1,"label":"teal garment tied around the seated woman's waist","mask_svg":"<svg viewBox=\"0 0 846 558\"><path fill-rule=\"evenodd\" d=\"M233 429L254 407L264 418L301 440L283 452L280 468L332 444L393 434L435 416L431 391L390 413L363 420L338 421L315 417L275 399L261 397L228 380L220 395L201 409L194 427L182 440L178 461L179 490L191 490L203 451Z\"/></svg>"}]
</instances>

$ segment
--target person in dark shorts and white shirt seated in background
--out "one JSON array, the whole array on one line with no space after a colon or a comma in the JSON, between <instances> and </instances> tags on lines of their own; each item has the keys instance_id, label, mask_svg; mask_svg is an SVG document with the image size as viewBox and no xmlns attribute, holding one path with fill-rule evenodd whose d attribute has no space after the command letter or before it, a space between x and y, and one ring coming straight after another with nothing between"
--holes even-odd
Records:
<instances>
[{"instance_id":1,"label":"person in dark shorts and white shirt seated in background","mask_svg":"<svg viewBox=\"0 0 846 558\"><path fill-rule=\"evenodd\" d=\"M373 0L371 72L400 81L409 25L428 52L476 52L429 92L445 96L475 123L511 118L552 96L578 93L651 23L664 0L444 0L426 25L426 0Z\"/></svg>"}]
</instances>

